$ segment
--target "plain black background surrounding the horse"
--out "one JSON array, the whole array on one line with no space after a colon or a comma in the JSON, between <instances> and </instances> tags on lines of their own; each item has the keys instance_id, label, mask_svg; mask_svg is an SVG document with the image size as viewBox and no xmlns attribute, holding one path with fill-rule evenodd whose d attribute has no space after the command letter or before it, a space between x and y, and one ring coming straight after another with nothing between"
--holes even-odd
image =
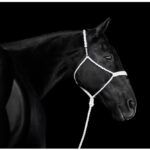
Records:
<instances>
[{"instance_id":1,"label":"plain black background surrounding the horse","mask_svg":"<svg viewBox=\"0 0 150 150\"><path fill-rule=\"evenodd\" d=\"M112 19L106 35L116 48L138 102L136 116L117 122L96 101L85 148L150 147L150 3L0 3L0 43L64 30L94 28ZM64 79L45 98L47 146L76 148L88 110L88 97Z\"/></svg>"}]
</instances>

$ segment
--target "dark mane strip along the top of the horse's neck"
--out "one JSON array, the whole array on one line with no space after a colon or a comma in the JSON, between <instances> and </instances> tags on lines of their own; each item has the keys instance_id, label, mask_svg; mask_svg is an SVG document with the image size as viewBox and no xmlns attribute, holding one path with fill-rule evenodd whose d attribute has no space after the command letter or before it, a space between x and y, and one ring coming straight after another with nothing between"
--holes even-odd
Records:
<instances>
[{"instance_id":1,"label":"dark mane strip along the top of the horse's neck","mask_svg":"<svg viewBox=\"0 0 150 150\"><path fill-rule=\"evenodd\" d=\"M49 34L44 34L36 37L31 37L23 40L18 40L15 42L3 43L0 44L5 50L23 50L30 47L36 47L40 44L56 38L64 38L69 37L70 35L74 35L79 33L79 31L62 31L62 32L54 32Z\"/></svg>"}]
</instances>

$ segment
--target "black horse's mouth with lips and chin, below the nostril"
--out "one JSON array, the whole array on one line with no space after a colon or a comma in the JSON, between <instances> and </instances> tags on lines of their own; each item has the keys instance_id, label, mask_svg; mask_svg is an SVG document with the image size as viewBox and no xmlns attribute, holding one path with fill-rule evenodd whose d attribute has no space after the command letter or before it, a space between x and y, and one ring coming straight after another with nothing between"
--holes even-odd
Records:
<instances>
[{"instance_id":1,"label":"black horse's mouth with lips and chin, below the nostril","mask_svg":"<svg viewBox=\"0 0 150 150\"><path fill-rule=\"evenodd\" d=\"M121 121L130 120L135 116L136 110L130 109L129 112L123 112L120 107L118 107L119 115Z\"/></svg>"}]
</instances>

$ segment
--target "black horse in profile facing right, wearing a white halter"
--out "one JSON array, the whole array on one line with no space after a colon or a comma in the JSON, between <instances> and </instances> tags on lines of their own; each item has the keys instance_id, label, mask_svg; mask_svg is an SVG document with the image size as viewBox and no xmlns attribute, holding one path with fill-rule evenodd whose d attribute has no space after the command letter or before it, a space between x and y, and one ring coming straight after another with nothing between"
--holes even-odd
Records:
<instances>
[{"instance_id":1,"label":"black horse in profile facing right, wearing a white halter","mask_svg":"<svg viewBox=\"0 0 150 150\"><path fill-rule=\"evenodd\" d=\"M89 56L101 66L123 70L104 32L107 19L87 31ZM41 101L61 80L72 77L85 57L82 31L66 31L0 45L1 147L46 147L45 112ZM88 68L88 75L86 69ZM108 80L108 73L87 62L78 81L91 93ZM96 97L117 120L135 115L136 99L126 76L114 78ZM5 135L5 136L4 136Z\"/></svg>"}]
</instances>

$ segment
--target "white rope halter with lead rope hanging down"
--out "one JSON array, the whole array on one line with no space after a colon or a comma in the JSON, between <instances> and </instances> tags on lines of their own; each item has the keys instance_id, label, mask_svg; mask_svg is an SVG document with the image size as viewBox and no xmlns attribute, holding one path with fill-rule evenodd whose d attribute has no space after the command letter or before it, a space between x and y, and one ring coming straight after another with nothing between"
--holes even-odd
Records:
<instances>
[{"instance_id":1,"label":"white rope halter with lead rope hanging down","mask_svg":"<svg viewBox=\"0 0 150 150\"><path fill-rule=\"evenodd\" d=\"M98 66L99 68L103 69L104 71L112 74L111 78L94 94L94 95L91 95L86 89L84 89L83 87L79 86L90 98L90 101L89 101L89 110L88 110L88 113L87 113L87 118L86 118L86 122L85 122L85 127L84 127L84 131L83 131L83 134L82 134L82 138L81 138L81 141L80 141L80 144L79 144L79 149L81 148L82 146L82 143L84 141L84 138L85 138L85 134L86 134L86 131L87 131L87 127L88 127L88 122L89 122L89 117L90 117L90 113L91 113L91 110L92 110L92 107L94 106L94 98L111 82L111 80L114 78L114 77L117 77L117 76L127 76L127 72L126 71L118 71L118 72L112 72L106 68L104 68L103 66L99 65L98 63L96 63L93 59L91 59L88 55L88 49L87 49L87 39L86 39L86 31L83 30L83 39L84 39L84 48L85 48L85 58L81 61L81 63L79 64L79 66L76 68L75 72L74 72L74 80L76 82L76 84L78 85L78 82L76 80L76 73L77 71L79 70L79 68L81 67L81 65L88 59L90 60L92 63L94 63L96 66Z\"/></svg>"}]
</instances>

